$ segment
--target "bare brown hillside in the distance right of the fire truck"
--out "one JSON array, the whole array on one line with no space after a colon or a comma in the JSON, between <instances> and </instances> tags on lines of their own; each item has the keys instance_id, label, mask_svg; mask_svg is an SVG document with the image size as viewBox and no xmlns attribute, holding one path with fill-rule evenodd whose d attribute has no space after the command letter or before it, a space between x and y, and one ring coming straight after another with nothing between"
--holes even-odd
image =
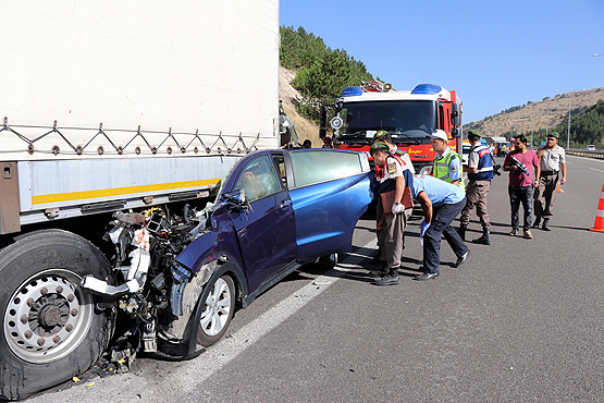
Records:
<instances>
[{"instance_id":1,"label":"bare brown hillside in the distance right of the fire truck","mask_svg":"<svg viewBox=\"0 0 604 403\"><path fill-rule=\"evenodd\" d=\"M529 101L527 105L509 108L478 122L467 123L464 130L467 132L469 129L478 129L484 136L503 136L510 131L527 134L531 130L537 132L540 129L552 129L568 119L569 100L571 115L574 115L574 112L591 107L601 99L604 99L604 87L558 94L553 98L544 98L539 102ZM505 136L509 137L509 135Z\"/></svg>"}]
</instances>

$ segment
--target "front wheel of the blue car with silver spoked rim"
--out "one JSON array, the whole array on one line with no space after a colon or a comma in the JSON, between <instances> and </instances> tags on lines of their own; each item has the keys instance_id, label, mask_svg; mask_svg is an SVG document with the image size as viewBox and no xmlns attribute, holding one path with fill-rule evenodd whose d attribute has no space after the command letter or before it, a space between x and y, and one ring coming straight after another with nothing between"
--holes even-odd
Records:
<instances>
[{"instance_id":1,"label":"front wheel of the blue car with silver spoked rim","mask_svg":"<svg viewBox=\"0 0 604 403\"><path fill-rule=\"evenodd\" d=\"M235 310L235 284L224 274L208 282L199 298L201 315L197 342L209 346L218 342L226 332Z\"/></svg>"}]
</instances>

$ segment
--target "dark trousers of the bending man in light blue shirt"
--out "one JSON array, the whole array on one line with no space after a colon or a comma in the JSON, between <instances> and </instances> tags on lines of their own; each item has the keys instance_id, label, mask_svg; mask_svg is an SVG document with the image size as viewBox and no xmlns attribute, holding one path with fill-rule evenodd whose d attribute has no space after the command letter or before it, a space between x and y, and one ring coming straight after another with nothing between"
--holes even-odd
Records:
<instances>
[{"instance_id":1,"label":"dark trousers of the bending man in light blue shirt","mask_svg":"<svg viewBox=\"0 0 604 403\"><path fill-rule=\"evenodd\" d=\"M451 223L466 206L461 202L442 205L432 211L432 221L423 234L423 270L429 273L439 272L441 264L441 241L444 236L457 257L464 256L469 249Z\"/></svg>"}]
</instances>

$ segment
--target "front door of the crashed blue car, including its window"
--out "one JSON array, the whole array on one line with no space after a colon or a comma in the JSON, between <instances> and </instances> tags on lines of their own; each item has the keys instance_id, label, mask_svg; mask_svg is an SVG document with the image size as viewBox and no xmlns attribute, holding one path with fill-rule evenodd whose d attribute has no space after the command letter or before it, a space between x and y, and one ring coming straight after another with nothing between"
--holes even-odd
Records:
<instances>
[{"instance_id":1,"label":"front door of the crashed blue car, including its window","mask_svg":"<svg viewBox=\"0 0 604 403\"><path fill-rule=\"evenodd\" d=\"M237 231L249 292L296 257L294 209L274 160L283 157L273 155L262 154L248 160L232 187L243 190L249 200L249 208L230 212Z\"/></svg>"}]
</instances>

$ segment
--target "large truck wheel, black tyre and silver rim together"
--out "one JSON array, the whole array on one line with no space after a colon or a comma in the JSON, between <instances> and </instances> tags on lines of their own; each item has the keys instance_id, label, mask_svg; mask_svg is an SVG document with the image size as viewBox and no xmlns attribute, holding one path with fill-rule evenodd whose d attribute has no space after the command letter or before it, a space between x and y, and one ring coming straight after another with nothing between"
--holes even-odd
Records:
<instances>
[{"instance_id":1,"label":"large truck wheel, black tyre and silver rim together","mask_svg":"<svg viewBox=\"0 0 604 403\"><path fill-rule=\"evenodd\" d=\"M93 366L113 332L79 286L111 267L85 239L61 230L32 232L0 251L0 400L23 399Z\"/></svg>"}]
</instances>

